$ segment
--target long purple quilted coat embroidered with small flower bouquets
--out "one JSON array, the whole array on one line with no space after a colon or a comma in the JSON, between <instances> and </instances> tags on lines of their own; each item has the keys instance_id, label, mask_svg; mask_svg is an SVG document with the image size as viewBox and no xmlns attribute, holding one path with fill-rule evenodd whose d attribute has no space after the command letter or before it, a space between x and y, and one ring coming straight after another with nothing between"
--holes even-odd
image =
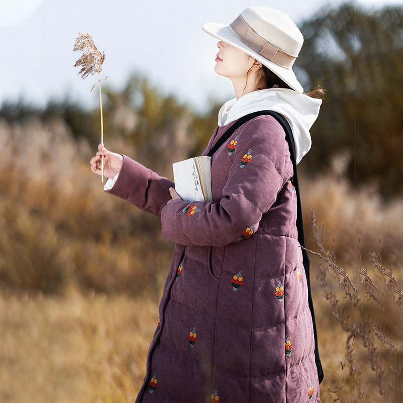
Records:
<instances>
[{"instance_id":1,"label":"long purple quilted coat embroidered with small flower bouquets","mask_svg":"<svg viewBox=\"0 0 403 403\"><path fill-rule=\"evenodd\" d=\"M166 205L173 183L124 157L110 190L161 215L176 242L136 402L319 402L283 128L271 116L248 121L211 172L214 201Z\"/></svg>"}]
</instances>

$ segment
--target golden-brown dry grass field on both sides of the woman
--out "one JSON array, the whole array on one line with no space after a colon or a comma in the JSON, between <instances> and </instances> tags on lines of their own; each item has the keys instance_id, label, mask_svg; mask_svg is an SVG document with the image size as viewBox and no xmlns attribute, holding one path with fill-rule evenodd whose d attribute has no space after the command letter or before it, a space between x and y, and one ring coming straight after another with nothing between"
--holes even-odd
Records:
<instances>
[{"instance_id":1,"label":"golden-brown dry grass field on both sides of the woman","mask_svg":"<svg viewBox=\"0 0 403 403\"><path fill-rule=\"evenodd\" d=\"M0 401L133 402L172 243L158 219L103 193L88 144L62 122L0 121L0 142ZM321 398L401 401L403 200L352 187L337 163L300 178L307 248L330 262L311 255ZM325 226L322 250L308 208ZM393 271L393 290L371 258Z\"/></svg>"}]
</instances>

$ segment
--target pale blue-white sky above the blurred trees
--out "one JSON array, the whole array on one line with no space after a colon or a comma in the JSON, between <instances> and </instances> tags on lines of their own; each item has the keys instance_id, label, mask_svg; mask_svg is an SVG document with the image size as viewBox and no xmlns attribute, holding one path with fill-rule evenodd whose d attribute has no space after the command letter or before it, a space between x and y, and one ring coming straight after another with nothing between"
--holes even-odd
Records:
<instances>
[{"instance_id":1,"label":"pale blue-white sky above the blurred trees","mask_svg":"<svg viewBox=\"0 0 403 403\"><path fill-rule=\"evenodd\" d=\"M335 7L343 0L331 0ZM367 8L402 5L403 0L361 0ZM140 74L182 102L203 109L209 99L234 96L231 82L214 72L217 40L201 30L205 22L231 23L250 6L287 13L298 25L327 0L0 0L0 105L23 100L39 107L68 97L86 107L99 102L90 92L97 78L78 77L73 52L79 32L105 52L101 78L122 89Z\"/></svg>"}]
</instances>

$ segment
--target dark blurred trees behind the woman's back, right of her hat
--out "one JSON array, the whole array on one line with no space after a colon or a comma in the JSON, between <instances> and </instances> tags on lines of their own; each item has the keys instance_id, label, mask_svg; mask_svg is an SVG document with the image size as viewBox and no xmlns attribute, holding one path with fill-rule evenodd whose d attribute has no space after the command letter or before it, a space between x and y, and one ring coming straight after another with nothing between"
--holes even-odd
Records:
<instances>
[{"instance_id":1,"label":"dark blurred trees behind the woman's back, right of her hat","mask_svg":"<svg viewBox=\"0 0 403 403\"><path fill-rule=\"evenodd\" d=\"M403 7L324 10L301 27L297 59L304 88L327 90L301 166L318 172L335 153L350 156L353 183L384 197L403 193Z\"/></svg>"}]
</instances>

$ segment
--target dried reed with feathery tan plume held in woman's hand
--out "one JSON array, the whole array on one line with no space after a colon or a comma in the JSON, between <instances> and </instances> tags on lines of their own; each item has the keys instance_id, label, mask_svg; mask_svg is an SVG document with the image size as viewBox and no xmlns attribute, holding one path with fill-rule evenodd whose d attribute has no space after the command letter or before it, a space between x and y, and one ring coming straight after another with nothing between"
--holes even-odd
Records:
<instances>
[{"instance_id":1,"label":"dried reed with feathery tan plume held in woman's hand","mask_svg":"<svg viewBox=\"0 0 403 403\"><path fill-rule=\"evenodd\" d=\"M101 143L104 142L104 123L103 123L103 115L102 115L102 93L101 93L101 76L102 72L102 63L105 60L105 52L100 52L94 44L91 35L82 34L79 32L79 36L76 38L76 42L74 44L73 50L81 50L83 51L82 56L76 61L74 67L81 66L81 70L78 75L85 79L89 75L98 74L98 83L99 83L99 102L101 109ZM106 77L107 78L107 77ZM105 80L106 80L105 78ZM91 91L94 89L95 84L91 88ZM104 182L104 158L102 156L102 183Z\"/></svg>"}]
</instances>

